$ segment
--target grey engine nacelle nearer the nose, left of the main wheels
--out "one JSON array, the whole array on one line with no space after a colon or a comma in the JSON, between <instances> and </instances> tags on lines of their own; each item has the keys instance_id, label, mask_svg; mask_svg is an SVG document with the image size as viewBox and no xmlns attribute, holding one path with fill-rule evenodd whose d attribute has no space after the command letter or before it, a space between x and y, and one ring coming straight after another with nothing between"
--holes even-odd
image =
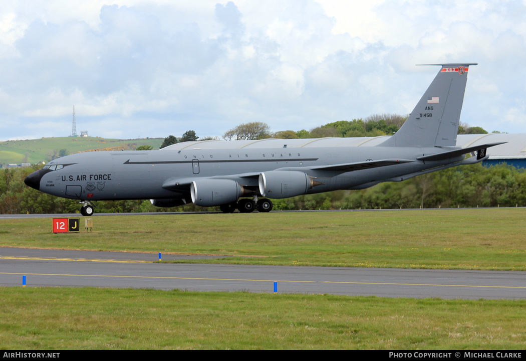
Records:
<instances>
[{"instance_id":1,"label":"grey engine nacelle nearer the nose, left of the main wheels","mask_svg":"<svg viewBox=\"0 0 526 361\"><path fill-rule=\"evenodd\" d=\"M244 188L230 179L197 179L190 185L192 201L203 207L235 202L244 193Z\"/></svg>"}]
</instances>

